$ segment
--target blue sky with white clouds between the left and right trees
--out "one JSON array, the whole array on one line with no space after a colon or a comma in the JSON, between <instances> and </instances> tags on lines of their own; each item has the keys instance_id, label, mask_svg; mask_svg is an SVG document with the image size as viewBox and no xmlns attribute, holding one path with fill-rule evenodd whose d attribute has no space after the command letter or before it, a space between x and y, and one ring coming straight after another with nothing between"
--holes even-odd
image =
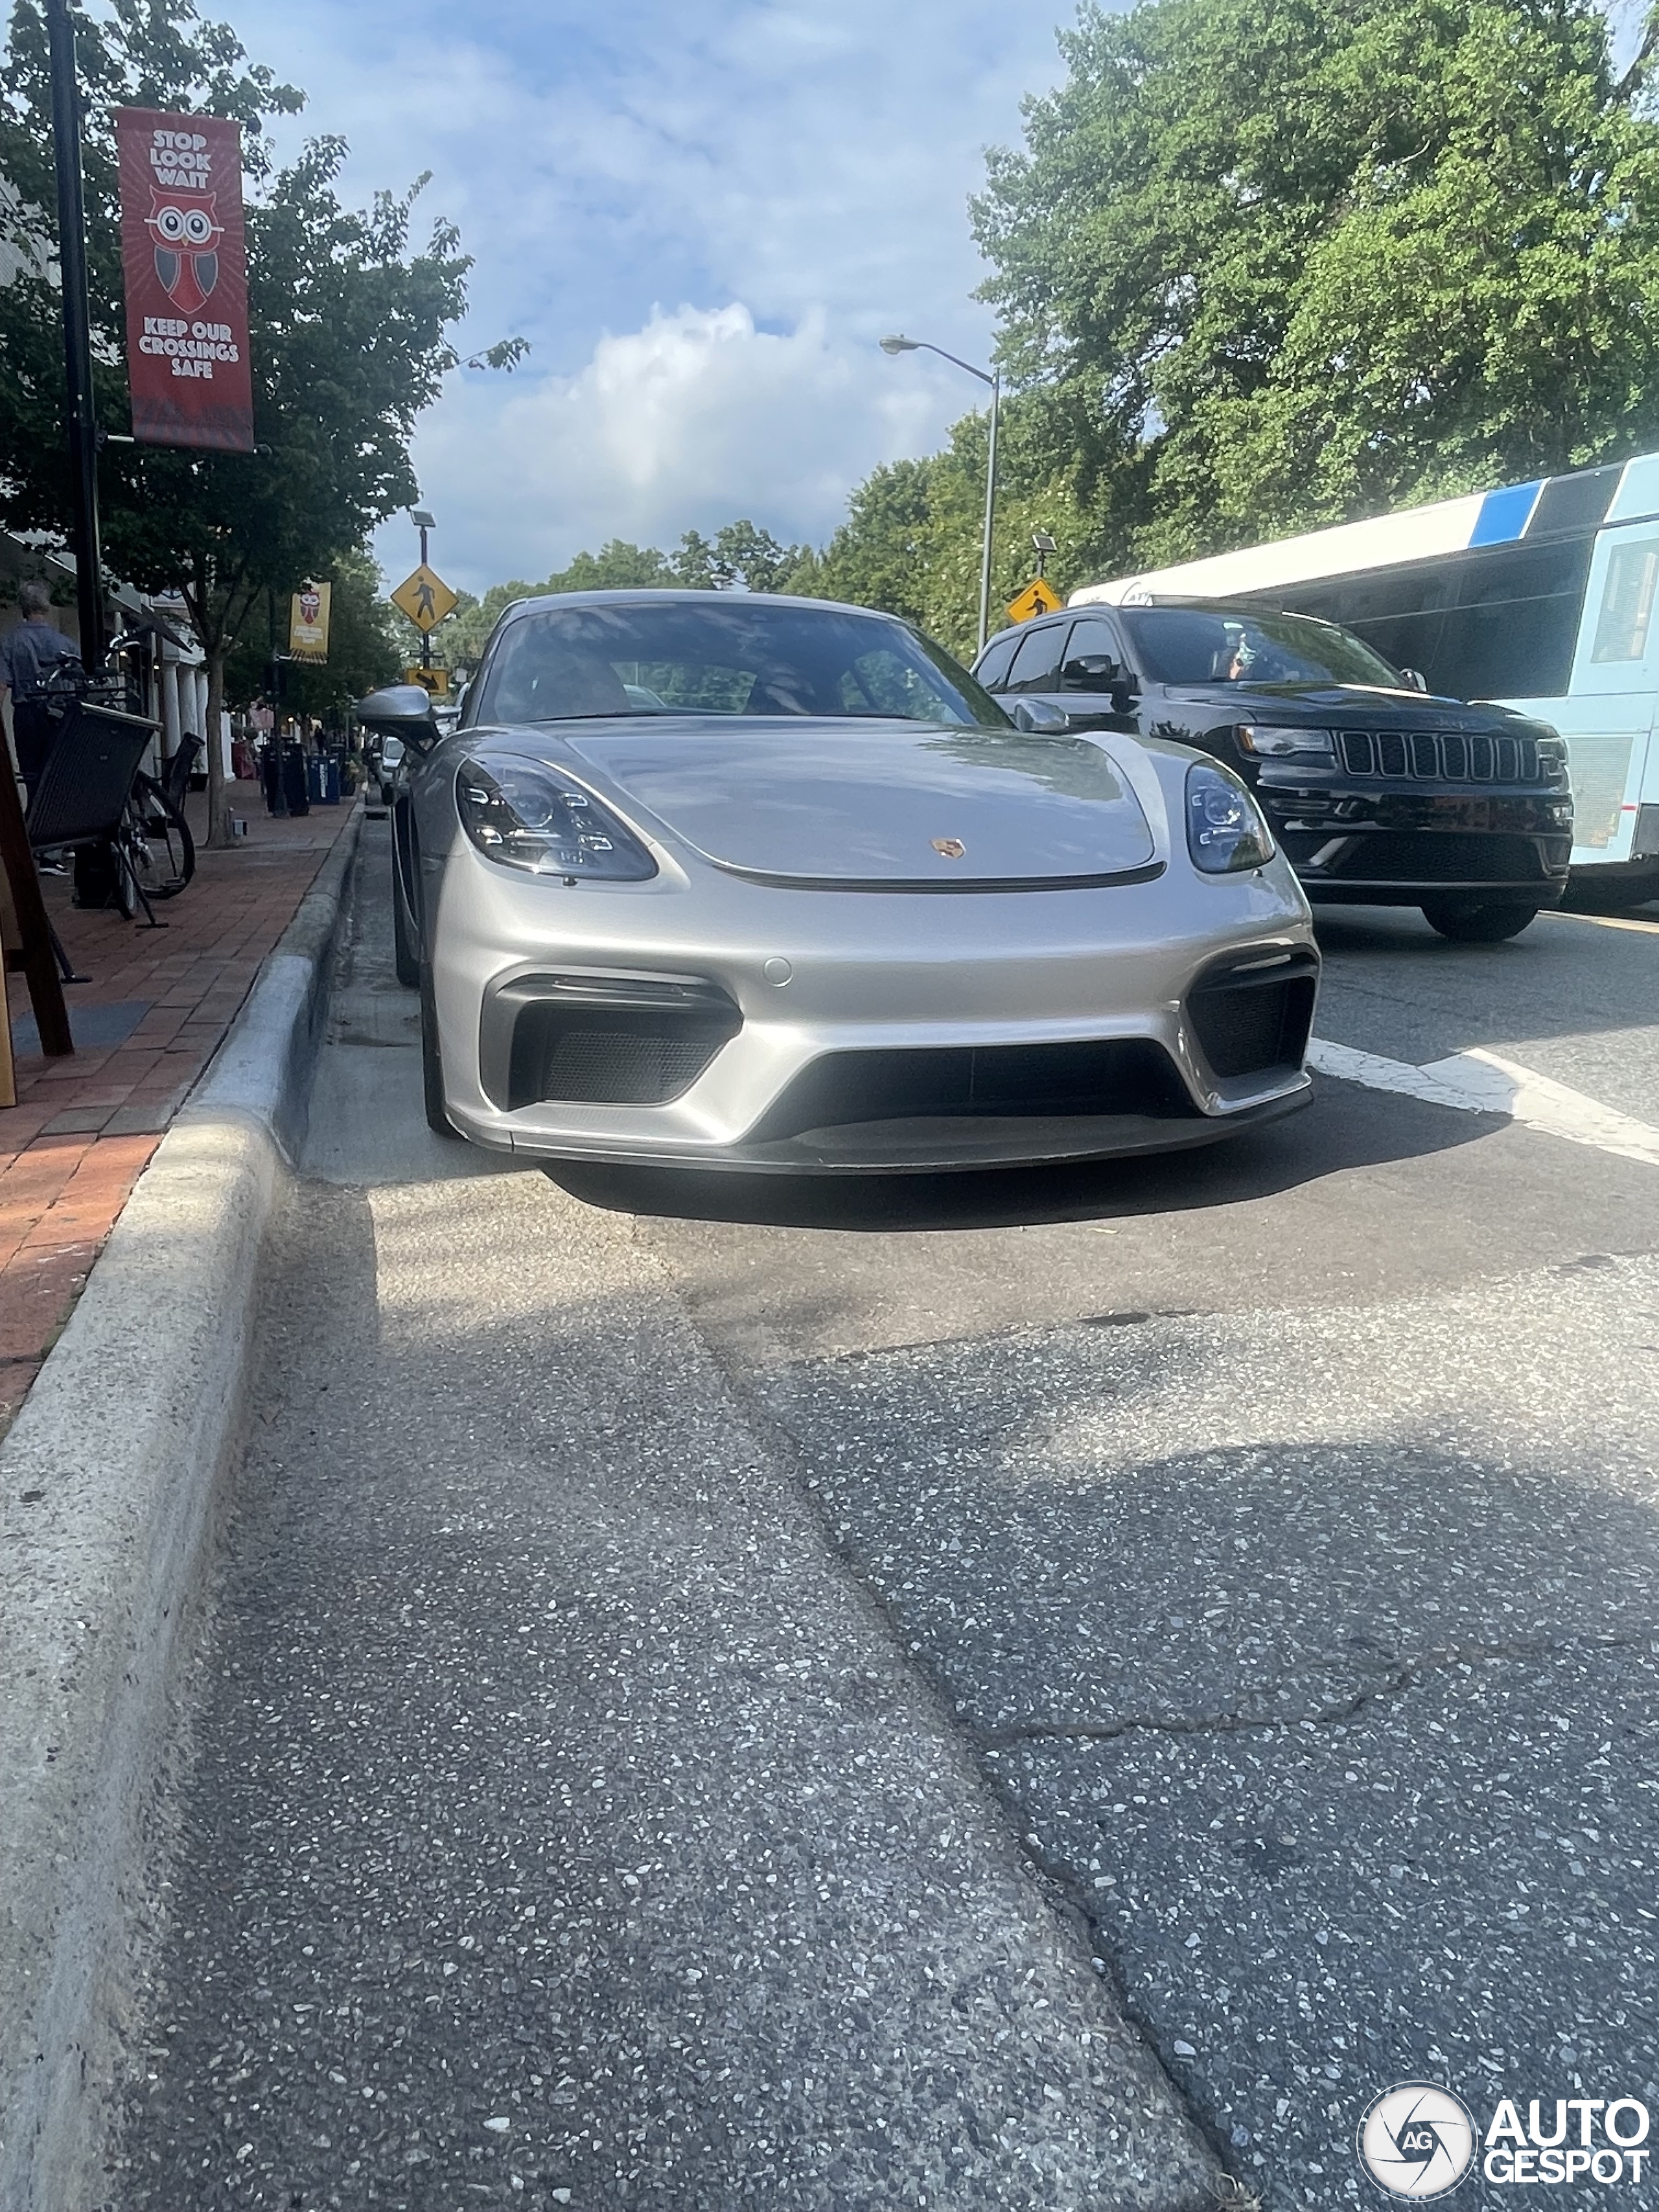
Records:
<instances>
[{"instance_id":1,"label":"blue sky with white clouds between the left and right trees","mask_svg":"<svg viewBox=\"0 0 1659 2212\"><path fill-rule=\"evenodd\" d=\"M876 462L975 403L887 330L984 358L967 197L1060 75L1055 0L204 0L352 142L367 197L478 257L469 345L416 465L434 562L473 591L604 538L750 515L823 540ZM380 533L400 568L407 526Z\"/></svg>"}]
</instances>

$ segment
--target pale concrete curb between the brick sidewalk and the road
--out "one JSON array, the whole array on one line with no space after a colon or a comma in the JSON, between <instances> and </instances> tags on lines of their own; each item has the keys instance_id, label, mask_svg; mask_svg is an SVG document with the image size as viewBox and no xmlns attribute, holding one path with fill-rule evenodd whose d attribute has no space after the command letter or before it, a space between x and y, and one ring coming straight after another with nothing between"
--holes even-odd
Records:
<instances>
[{"instance_id":1,"label":"pale concrete curb between the brick sidewalk and the road","mask_svg":"<svg viewBox=\"0 0 1659 2212\"><path fill-rule=\"evenodd\" d=\"M104 2194L175 1686L361 807L0 1447L0 2212Z\"/></svg>"}]
</instances>

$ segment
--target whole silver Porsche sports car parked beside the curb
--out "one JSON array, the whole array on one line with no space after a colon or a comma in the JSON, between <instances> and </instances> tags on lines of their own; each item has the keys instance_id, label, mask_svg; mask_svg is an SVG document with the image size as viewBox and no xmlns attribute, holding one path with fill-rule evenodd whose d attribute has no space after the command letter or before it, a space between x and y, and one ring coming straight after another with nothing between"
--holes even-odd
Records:
<instances>
[{"instance_id":1,"label":"whole silver Porsche sports car parked beside the curb","mask_svg":"<svg viewBox=\"0 0 1659 2212\"><path fill-rule=\"evenodd\" d=\"M398 973L436 1128L538 1159L916 1170L1206 1144L1307 1099L1318 953L1243 783L1011 721L821 599L513 606L416 688ZM1029 723L1029 726L1026 726Z\"/></svg>"}]
</instances>

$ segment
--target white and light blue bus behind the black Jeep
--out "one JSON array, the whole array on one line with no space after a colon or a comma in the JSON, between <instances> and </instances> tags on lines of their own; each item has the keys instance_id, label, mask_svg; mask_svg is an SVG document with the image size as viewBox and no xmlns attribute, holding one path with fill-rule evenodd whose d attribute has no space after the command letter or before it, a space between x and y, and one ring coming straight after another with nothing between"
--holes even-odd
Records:
<instances>
[{"instance_id":1,"label":"white and light blue bus behind the black Jeep","mask_svg":"<svg viewBox=\"0 0 1659 2212\"><path fill-rule=\"evenodd\" d=\"M1429 690L1500 699L1562 732L1573 869L1659 898L1659 453L1473 491L1374 522L1086 584L1323 615Z\"/></svg>"}]
</instances>

